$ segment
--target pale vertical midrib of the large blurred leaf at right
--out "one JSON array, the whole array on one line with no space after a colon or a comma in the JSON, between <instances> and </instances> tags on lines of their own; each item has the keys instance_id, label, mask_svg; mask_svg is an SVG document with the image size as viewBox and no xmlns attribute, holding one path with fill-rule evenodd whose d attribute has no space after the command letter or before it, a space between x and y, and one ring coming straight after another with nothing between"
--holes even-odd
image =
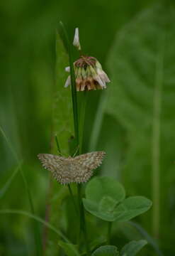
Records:
<instances>
[{"instance_id":1,"label":"pale vertical midrib of the large blurred leaf at right","mask_svg":"<svg viewBox=\"0 0 175 256\"><path fill-rule=\"evenodd\" d=\"M164 39L159 41L157 53L156 75L153 98L153 122L152 122L152 224L154 238L159 238L160 220L160 132L161 132L161 109L162 109L162 86L164 82Z\"/></svg>"}]
</instances>

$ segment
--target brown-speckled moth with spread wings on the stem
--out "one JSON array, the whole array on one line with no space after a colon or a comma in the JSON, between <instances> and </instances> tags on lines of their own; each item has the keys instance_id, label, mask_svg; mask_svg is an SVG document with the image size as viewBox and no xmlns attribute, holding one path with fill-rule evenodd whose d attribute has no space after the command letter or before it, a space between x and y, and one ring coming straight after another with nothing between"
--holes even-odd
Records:
<instances>
[{"instance_id":1,"label":"brown-speckled moth with spread wings on the stem","mask_svg":"<svg viewBox=\"0 0 175 256\"><path fill-rule=\"evenodd\" d=\"M58 182L67 184L88 181L93 174L92 170L101 165L105 155L104 151L94 151L76 157L38 154L38 159Z\"/></svg>"}]
</instances>

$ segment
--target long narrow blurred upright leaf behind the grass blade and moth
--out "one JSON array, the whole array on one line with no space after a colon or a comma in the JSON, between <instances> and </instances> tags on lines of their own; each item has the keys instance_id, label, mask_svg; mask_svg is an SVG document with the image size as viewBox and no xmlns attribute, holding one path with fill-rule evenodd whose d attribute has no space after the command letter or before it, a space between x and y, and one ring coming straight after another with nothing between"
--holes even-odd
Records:
<instances>
[{"instance_id":1,"label":"long narrow blurred upright leaf behind the grass blade and moth","mask_svg":"<svg viewBox=\"0 0 175 256\"><path fill-rule=\"evenodd\" d=\"M51 134L51 152L57 154L57 144L55 143L55 134L60 145L62 154L69 155L69 138L74 134L73 114L72 114L72 97L71 90L65 90L64 83L67 80L65 67L69 65L67 51L64 48L62 39L56 34L56 84L54 89L54 100L52 102L52 134ZM56 181L50 181L49 187L50 198L47 201L47 215L50 216L50 223L60 228L58 218L62 218L61 208L62 201L67 197L67 187L62 187ZM60 209L60 211L59 211ZM58 212L60 214L58 215ZM45 230L46 255L55 255L59 248L55 247L55 236ZM55 241L48 243L48 240Z\"/></svg>"}]
</instances>

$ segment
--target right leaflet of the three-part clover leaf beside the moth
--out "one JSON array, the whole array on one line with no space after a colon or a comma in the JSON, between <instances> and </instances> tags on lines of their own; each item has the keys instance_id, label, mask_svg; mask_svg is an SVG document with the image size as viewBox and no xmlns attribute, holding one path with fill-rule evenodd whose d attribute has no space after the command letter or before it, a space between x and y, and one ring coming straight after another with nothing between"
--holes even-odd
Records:
<instances>
[{"instance_id":1,"label":"right leaflet of the three-part clover leaf beside the moth","mask_svg":"<svg viewBox=\"0 0 175 256\"><path fill-rule=\"evenodd\" d=\"M131 196L126 198L115 209L115 220L127 221L137 215L145 213L152 206L152 201L143 196Z\"/></svg>"}]
</instances>

